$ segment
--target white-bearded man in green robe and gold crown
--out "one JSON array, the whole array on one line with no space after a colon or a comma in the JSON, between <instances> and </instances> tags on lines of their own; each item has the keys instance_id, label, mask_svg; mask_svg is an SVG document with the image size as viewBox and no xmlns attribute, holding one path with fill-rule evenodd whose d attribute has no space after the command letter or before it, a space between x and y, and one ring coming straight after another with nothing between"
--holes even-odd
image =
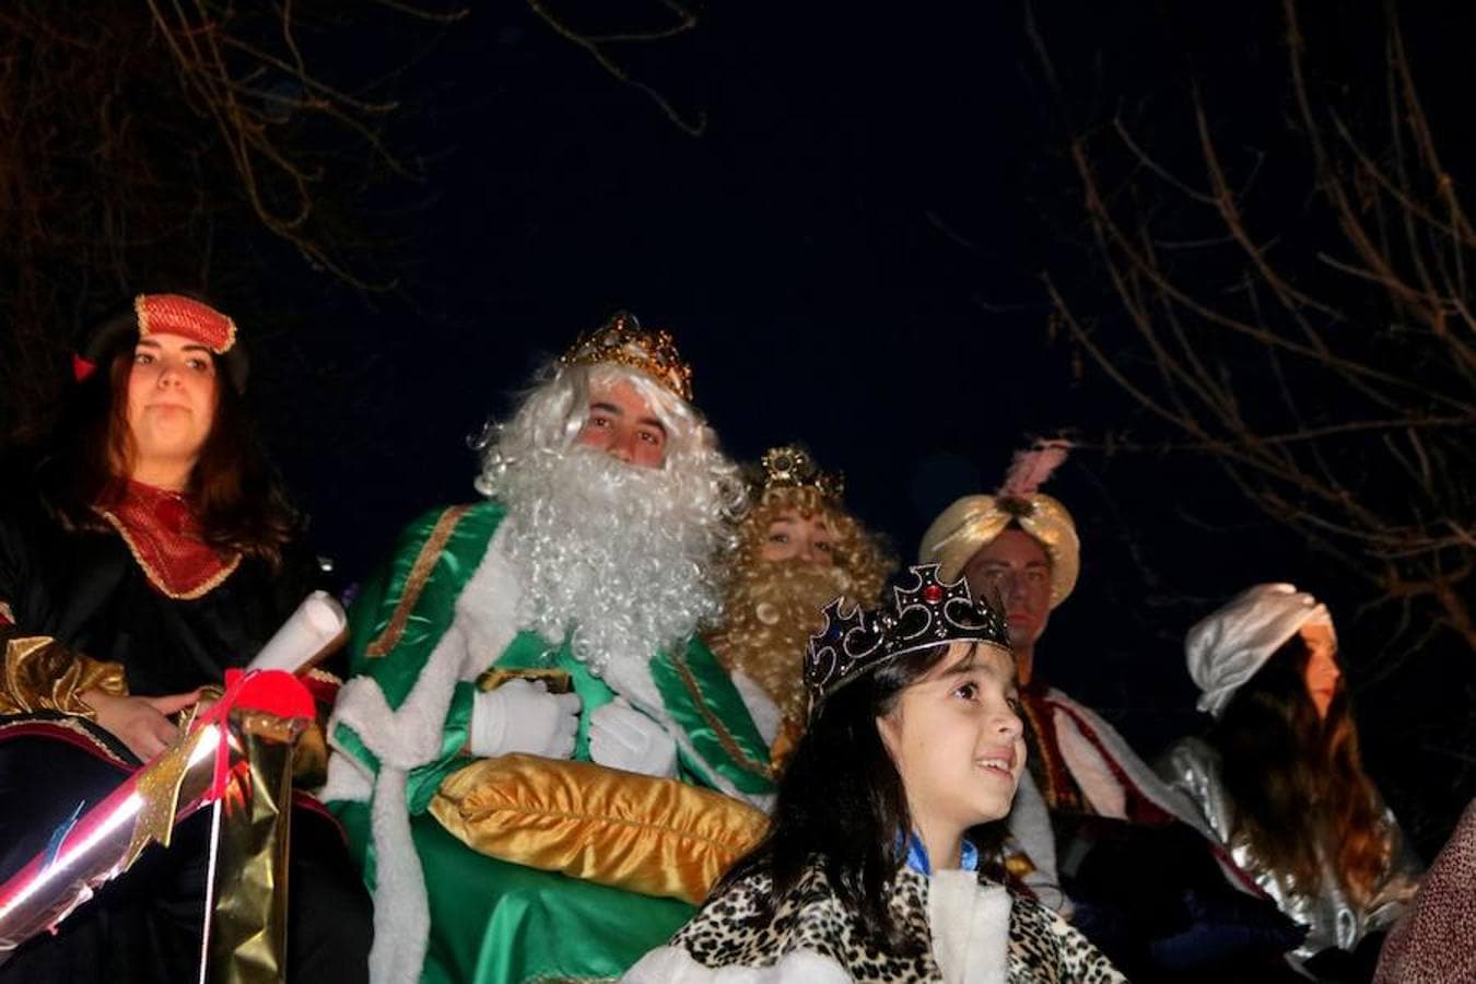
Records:
<instances>
[{"instance_id":1,"label":"white-bearded man in green robe and gold crown","mask_svg":"<svg viewBox=\"0 0 1476 984\"><path fill-rule=\"evenodd\" d=\"M375 890L378 984L618 977L692 907L474 853L428 811L477 758L574 758L766 807L768 752L694 633L744 493L666 332L582 336L489 431L486 502L401 536L351 614L323 791ZM552 693L496 671L559 671Z\"/></svg>"}]
</instances>

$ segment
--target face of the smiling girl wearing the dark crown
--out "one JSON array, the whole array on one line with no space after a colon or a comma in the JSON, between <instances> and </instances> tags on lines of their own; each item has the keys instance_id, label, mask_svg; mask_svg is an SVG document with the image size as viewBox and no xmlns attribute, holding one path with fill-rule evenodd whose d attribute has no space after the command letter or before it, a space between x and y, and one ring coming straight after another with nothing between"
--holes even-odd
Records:
<instances>
[{"instance_id":1,"label":"face of the smiling girl wearing the dark crown","mask_svg":"<svg viewBox=\"0 0 1476 984\"><path fill-rule=\"evenodd\" d=\"M945 836L1010 813L1024 769L1014 659L955 642L877 718L920 832Z\"/></svg>"}]
</instances>

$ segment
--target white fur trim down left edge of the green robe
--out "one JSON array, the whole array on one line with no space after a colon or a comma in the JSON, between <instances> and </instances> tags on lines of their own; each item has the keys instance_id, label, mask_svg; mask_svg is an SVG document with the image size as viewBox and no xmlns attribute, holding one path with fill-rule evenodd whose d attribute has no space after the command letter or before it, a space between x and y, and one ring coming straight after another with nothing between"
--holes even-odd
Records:
<instances>
[{"instance_id":1,"label":"white fur trim down left edge of the green robe","mask_svg":"<svg viewBox=\"0 0 1476 984\"><path fill-rule=\"evenodd\" d=\"M406 777L412 769L434 761L440 754L456 683L474 680L503 654L518 631L514 612L520 587L500 541L499 530L458 596L450 627L435 643L400 707L391 711L373 679L356 677L339 690L328 726L332 735L339 723L347 724L379 758L370 808L376 878L369 978L375 984L415 984L421 980L430 904L421 859L410 836Z\"/></svg>"}]
</instances>

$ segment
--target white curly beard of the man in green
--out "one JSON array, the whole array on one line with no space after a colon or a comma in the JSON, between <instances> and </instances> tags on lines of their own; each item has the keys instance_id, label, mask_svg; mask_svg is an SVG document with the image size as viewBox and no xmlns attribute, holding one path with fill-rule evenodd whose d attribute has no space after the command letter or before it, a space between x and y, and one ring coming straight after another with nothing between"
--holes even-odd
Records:
<instances>
[{"instance_id":1,"label":"white curly beard of the man in green","mask_svg":"<svg viewBox=\"0 0 1476 984\"><path fill-rule=\"evenodd\" d=\"M710 481L573 447L518 462L500 499L520 626L551 645L570 637L596 676L644 676L719 614L713 558L728 531Z\"/></svg>"}]
</instances>

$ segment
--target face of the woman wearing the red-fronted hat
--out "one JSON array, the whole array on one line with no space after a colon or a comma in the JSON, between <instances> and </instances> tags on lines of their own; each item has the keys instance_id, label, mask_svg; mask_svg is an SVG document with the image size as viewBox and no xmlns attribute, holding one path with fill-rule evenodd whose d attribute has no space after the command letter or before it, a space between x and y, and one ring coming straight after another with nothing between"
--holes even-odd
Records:
<instances>
[{"instance_id":1,"label":"face of the woman wearing the red-fronted hat","mask_svg":"<svg viewBox=\"0 0 1476 984\"><path fill-rule=\"evenodd\" d=\"M149 335L128 370L133 471L193 468L215 420L215 360L183 335Z\"/></svg>"}]
</instances>

